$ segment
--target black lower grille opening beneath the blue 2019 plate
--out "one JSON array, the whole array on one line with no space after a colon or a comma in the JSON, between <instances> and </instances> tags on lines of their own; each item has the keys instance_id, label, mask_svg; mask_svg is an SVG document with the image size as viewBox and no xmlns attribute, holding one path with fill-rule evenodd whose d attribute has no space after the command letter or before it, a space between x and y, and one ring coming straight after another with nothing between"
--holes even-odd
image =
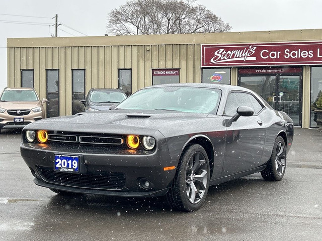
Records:
<instances>
[{"instance_id":1,"label":"black lower grille opening beneath the blue 2019 plate","mask_svg":"<svg viewBox=\"0 0 322 241\"><path fill-rule=\"evenodd\" d=\"M101 172L91 174L74 174L55 172L50 168L40 168L45 181L81 188L120 190L125 186L125 174L117 172Z\"/></svg>"}]
</instances>

